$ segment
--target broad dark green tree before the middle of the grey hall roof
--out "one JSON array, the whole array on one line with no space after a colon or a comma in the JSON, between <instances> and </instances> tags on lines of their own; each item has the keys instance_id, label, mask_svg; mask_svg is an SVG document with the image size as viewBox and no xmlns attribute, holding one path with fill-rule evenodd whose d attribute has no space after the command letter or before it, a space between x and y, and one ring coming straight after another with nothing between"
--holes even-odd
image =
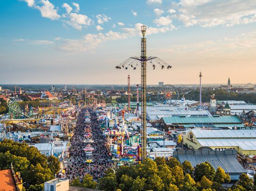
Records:
<instances>
[{"instance_id":1,"label":"broad dark green tree before the middle of the grey hall roof","mask_svg":"<svg viewBox=\"0 0 256 191\"><path fill-rule=\"evenodd\" d=\"M200 181L203 176L212 181L215 177L215 169L209 162L202 162L195 167L194 176L196 182Z\"/></svg>"}]
</instances>

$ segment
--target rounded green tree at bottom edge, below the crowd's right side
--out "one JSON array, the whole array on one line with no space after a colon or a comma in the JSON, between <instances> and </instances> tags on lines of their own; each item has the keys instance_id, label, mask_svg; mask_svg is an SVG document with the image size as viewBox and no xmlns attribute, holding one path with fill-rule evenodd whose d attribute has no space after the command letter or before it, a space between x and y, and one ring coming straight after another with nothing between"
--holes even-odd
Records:
<instances>
[{"instance_id":1,"label":"rounded green tree at bottom edge, below the crowd's right side","mask_svg":"<svg viewBox=\"0 0 256 191\"><path fill-rule=\"evenodd\" d=\"M118 184L114 176L105 176L99 179L98 189L104 191L115 191L117 185Z\"/></svg>"}]
</instances>

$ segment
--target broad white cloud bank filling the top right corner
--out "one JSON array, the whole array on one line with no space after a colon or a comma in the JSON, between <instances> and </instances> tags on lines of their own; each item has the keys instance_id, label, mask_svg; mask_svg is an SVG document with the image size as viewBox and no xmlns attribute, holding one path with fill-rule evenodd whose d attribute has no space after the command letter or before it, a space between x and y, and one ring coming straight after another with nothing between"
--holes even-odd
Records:
<instances>
[{"instance_id":1,"label":"broad white cloud bank filling the top right corner","mask_svg":"<svg viewBox=\"0 0 256 191\"><path fill-rule=\"evenodd\" d=\"M180 0L177 18L185 26L225 27L256 22L255 0Z\"/></svg>"}]
</instances>

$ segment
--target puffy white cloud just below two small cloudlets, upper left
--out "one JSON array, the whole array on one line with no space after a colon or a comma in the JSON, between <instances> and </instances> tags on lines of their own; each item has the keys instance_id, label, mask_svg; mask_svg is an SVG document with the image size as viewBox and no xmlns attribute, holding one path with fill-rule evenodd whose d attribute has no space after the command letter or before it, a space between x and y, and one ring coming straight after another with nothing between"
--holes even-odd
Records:
<instances>
[{"instance_id":1,"label":"puffy white cloud just below two small cloudlets, upper left","mask_svg":"<svg viewBox=\"0 0 256 191\"><path fill-rule=\"evenodd\" d=\"M65 22L77 30L82 30L83 26L86 26L86 25L90 26L92 23L92 20L88 18L87 15L70 13L69 21L65 21Z\"/></svg>"}]
</instances>

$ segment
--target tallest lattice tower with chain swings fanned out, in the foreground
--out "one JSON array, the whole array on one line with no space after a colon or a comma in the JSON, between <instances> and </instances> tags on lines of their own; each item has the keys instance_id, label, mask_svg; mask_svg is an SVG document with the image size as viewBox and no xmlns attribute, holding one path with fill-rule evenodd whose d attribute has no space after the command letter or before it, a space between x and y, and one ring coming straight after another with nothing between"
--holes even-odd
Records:
<instances>
[{"instance_id":1,"label":"tallest lattice tower with chain swings fanned out, in the foreground","mask_svg":"<svg viewBox=\"0 0 256 191\"><path fill-rule=\"evenodd\" d=\"M149 56L147 57L147 50L146 50L146 29L147 27L145 25L142 25L140 27L141 33L143 38L140 40L140 46L141 46L141 53L140 57L130 57L126 61L122 62L118 66L116 66L116 69L128 69L128 67L132 67L132 69L136 69L136 67L139 65L138 62L140 62L141 66L141 160L145 160L147 158L147 150L146 150L146 142L147 142L147 132L146 132L146 92L147 92L147 61L150 61L150 64L152 65L153 69L156 68L156 65L160 65L161 69L164 69L165 67L167 69L171 69L172 66L168 65L165 61L162 61L161 59L157 58L156 56Z\"/></svg>"}]
</instances>

